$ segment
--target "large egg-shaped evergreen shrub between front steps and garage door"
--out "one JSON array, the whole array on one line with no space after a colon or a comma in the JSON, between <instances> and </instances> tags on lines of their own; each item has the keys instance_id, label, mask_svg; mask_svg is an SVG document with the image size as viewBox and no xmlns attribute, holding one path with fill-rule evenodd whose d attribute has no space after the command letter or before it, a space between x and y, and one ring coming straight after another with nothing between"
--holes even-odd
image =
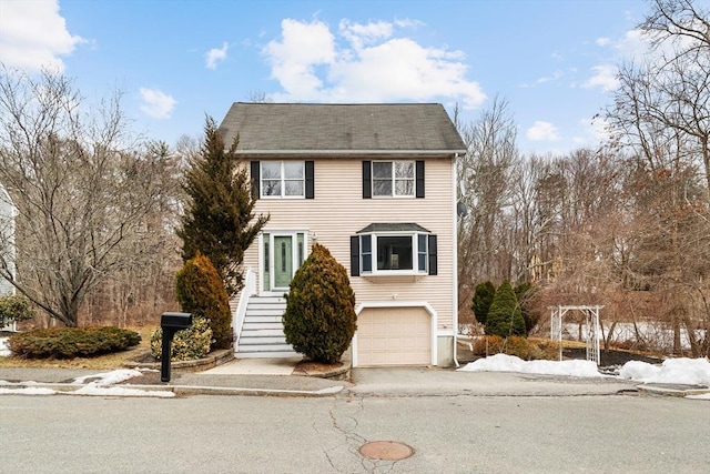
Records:
<instances>
[{"instance_id":1,"label":"large egg-shaped evergreen shrub between front steps and garage door","mask_svg":"<svg viewBox=\"0 0 710 474\"><path fill-rule=\"evenodd\" d=\"M283 316L286 342L306 357L341 360L356 330L355 293L347 271L321 244L296 271Z\"/></svg>"}]
</instances>

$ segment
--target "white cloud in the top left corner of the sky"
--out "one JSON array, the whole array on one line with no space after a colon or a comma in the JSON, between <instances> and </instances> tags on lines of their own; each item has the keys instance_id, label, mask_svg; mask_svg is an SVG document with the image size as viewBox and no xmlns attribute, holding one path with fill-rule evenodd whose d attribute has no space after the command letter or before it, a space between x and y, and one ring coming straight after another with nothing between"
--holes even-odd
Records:
<instances>
[{"instance_id":1,"label":"white cloud in the top left corner of the sky","mask_svg":"<svg viewBox=\"0 0 710 474\"><path fill-rule=\"evenodd\" d=\"M72 53L84 40L67 30L59 2L3 1L0 6L0 62L37 71L64 70L62 56Z\"/></svg>"}]
</instances>

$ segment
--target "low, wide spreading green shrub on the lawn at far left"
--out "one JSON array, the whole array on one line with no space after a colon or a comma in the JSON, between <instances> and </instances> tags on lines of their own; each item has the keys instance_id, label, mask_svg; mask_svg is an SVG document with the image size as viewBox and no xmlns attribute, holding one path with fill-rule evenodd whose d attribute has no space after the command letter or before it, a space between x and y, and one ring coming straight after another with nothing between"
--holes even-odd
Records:
<instances>
[{"instance_id":1,"label":"low, wide spreading green shrub on the lawn at far left","mask_svg":"<svg viewBox=\"0 0 710 474\"><path fill-rule=\"evenodd\" d=\"M8 346L26 359L73 359L125 351L140 342L139 333L113 326L50 327L12 335Z\"/></svg>"}]
</instances>

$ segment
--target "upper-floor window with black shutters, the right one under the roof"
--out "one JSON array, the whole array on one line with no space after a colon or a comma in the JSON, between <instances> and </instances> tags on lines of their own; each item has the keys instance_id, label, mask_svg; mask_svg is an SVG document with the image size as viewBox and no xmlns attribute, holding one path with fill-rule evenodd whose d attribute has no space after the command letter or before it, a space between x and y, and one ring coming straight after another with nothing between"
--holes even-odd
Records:
<instances>
[{"instance_id":1,"label":"upper-floor window with black shutters, the right one under the roof","mask_svg":"<svg viewBox=\"0 0 710 474\"><path fill-rule=\"evenodd\" d=\"M424 198L424 161L363 161L363 198Z\"/></svg>"}]
</instances>

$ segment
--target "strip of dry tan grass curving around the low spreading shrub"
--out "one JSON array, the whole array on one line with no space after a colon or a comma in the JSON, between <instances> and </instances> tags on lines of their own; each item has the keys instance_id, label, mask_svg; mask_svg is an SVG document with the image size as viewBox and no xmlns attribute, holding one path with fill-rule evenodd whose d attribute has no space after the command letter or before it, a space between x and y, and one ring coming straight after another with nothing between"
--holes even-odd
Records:
<instances>
[{"instance_id":1,"label":"strip of dry tan grass curving around the low spreading shrub","mask_svg":"<svg viewBox=\"0 0 710 474\"><path fill-rule=\"evenodd\" d=\"M155 331L155 326L145 327L128 327L141 334L141 343L129 351L115 352L112 354L99 355L97 357L75 357L75 359L20 359L20 357L0 357L0 367L53 367L53 369L100 369L114 370L121 369L123 363L131 361L139 355L150 352L151 335Z\"/></svg>"}]
</instances>

